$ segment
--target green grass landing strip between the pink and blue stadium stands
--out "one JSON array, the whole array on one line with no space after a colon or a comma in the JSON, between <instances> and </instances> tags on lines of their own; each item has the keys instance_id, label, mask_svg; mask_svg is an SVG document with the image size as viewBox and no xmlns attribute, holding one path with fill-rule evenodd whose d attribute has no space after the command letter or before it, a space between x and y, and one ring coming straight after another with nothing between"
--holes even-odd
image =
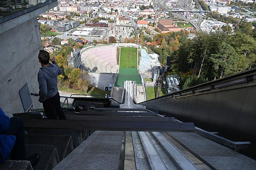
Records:
<instances>
[{"instance_id":1,"label":"green grass landing strip between the pink and blue stadium stands","mask_svg":"<svg viewBox=\"0 0 256 170\"><path fill-rule=\"evenodd\" d=\"M136 81L142 84L137 70L137 49L130 47L121 48L119 73L116 80L116 87L122 87L125 80Z\"/></svg>"}]
</instances>

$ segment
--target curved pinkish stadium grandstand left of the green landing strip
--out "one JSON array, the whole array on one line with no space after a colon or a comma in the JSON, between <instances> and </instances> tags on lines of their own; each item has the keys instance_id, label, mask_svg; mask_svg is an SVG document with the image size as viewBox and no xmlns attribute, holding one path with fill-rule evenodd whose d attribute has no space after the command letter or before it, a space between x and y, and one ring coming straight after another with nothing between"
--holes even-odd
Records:
<instances>
[{"instance_id":1,"label":"curved pinkish stadium grandstand left of the green landing strip","mask_svg":"<svg viewBox=\"0 0 256 170\"><path fill-rule=\"evenodd\" d=\"M92 72L118 72L116 46L102 45L82 49L82 66Z\"/></svg>"}]
</instances>

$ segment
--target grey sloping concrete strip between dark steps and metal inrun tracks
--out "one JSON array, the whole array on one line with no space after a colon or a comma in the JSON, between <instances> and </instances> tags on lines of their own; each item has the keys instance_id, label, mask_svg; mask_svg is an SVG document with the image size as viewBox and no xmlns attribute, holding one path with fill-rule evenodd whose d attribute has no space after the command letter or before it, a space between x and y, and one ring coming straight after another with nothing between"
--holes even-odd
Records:
<instances>
[{"instance_id":1,"label":"grey sloping concrete strip between dark steps and metal inrun tracks","mask_svg":"<svg viewBox=\"0 0 256 170\"><path fill-rule=\"evenodd\" d=\"M122 145L122 131L96 131L53 170L116 170Z\"/></svg>"}]
</instances>

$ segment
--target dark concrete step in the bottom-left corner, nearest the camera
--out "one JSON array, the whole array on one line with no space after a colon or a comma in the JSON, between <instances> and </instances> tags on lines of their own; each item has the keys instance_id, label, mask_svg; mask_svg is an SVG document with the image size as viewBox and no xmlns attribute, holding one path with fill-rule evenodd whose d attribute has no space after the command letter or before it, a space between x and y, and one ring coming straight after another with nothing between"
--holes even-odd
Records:
<instances>
[{"instance_id":1,"label":"dark concrete step in the bottom-left corner, nearest the camera","mask_svg":"<svg viewBox=\"0 0 256 170\"><path fill-rule=\"evenodd\" d=\"M5 160L0 164L0 170L33 170L27 160Z\"/></svg>"}]
</instances>

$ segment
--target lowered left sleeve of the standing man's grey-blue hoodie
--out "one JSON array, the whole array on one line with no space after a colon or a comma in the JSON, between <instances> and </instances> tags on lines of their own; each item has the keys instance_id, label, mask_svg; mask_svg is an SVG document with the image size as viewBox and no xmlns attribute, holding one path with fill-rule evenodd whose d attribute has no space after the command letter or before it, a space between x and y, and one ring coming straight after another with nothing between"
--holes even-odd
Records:
<instances>
[{"instance_id":1,"label":"lowered left sleeve of the standing man's grey-blue hoodie","mask_svg":"<svg viewBox=\"0 0 256 170\"><path fill-rule=\"evenodd\" d=\"M47 82L46 77L39 71L37 74L37 79L39 83L39 102L42 103L47 97Z\"/></svg>"}]
</instances>

